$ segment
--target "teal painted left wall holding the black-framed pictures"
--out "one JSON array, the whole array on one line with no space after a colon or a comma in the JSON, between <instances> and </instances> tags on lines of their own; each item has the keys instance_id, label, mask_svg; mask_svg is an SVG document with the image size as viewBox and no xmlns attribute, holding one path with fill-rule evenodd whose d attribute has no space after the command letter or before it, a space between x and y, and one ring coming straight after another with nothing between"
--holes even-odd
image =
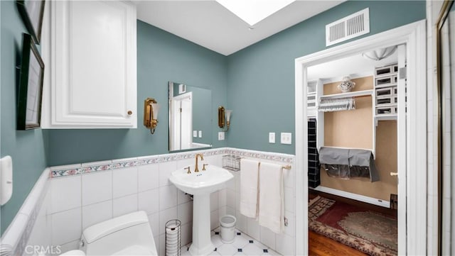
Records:
<instances>
[{"instance_id":1,"label":"teal painted left wall holding the black-framed pictures","mask_svg":"<svg viewBox=\"0 0 455 256\"><path fill-rule=\"evenodd\" d=\"M46 163L48 132L41 129L16 130L16 87L22 50L22 33L26 32L14 1L1 4L1 157L13 159L13 195L1 206L1 234L21 208Z\"/></svg>"}]
</instances>

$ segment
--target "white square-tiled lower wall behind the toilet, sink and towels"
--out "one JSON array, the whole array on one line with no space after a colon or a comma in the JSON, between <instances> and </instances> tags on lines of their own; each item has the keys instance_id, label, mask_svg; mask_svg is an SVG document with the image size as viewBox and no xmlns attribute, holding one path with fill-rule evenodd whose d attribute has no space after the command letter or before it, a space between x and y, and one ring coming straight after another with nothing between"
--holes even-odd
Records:
<instances>
[{"instance_id":1,"label":"white square-tiled lower wall behind the toilet, sink and towels","mask_svg":"<svg viewBox=\"0 0 455 256\"><path fill-rule=\"evenodd\" d=\"M182 222L182 245L190 243L193 201L168 182L168 175L178 167L193 165L193 161L193 158L182 159L49 179L50 189L38 214L29 244L53 245L61 252L74 250L78 247L82 230L88 226L138 210L146 211L161 255L164 254L164 225L171 219L178 218ZM112 162L119 160L98 164ZM222 155L206 156L204 162L220 166ZM92 165L94 163L77 166ZM286 250L282 249L283 252L294 250L294 228L288 227L283 235L277 235L260 227L257 221L240 214L240 172L232 174L235 179L228 182L225 189L210 195L211 228L218 227L220 216L231 214L237 217L239 230L262 241L272 250L282 249L278 245L280 239L287 244ZM294 225L295 219L293 175L289 172L284 177L286 215L291 225ZM293 248L287 248L289 245Z\"/></svg>"}]
</instances>

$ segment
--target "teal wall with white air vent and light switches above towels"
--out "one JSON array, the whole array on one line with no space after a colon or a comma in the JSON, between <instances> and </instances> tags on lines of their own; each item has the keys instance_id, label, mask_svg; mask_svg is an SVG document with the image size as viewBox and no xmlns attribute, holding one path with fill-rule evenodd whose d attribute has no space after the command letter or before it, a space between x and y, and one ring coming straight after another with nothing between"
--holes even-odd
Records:
<instances>
[{"instance_id":1,"label":"teal wall with white air vent and light switches above towels","mask_svg":"<svg viewBox=\"0 0 455 256\"><path fill-rule=\"evenodd\" d=\"M295 153L294 60L326 49L326 24L367 7L370 33L364 36L426 17L425 1L347 1L228 56L230 147ZM269 132L277 143L268 143ZM282 132L292 133L292 145L279 143Z\"/></svg>"}]
</instances>

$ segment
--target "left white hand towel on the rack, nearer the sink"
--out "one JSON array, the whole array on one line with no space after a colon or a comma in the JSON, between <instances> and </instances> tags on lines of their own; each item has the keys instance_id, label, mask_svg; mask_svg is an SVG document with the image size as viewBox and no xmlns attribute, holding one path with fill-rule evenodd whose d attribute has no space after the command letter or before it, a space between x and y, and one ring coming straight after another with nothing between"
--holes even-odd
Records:
<instances>
[{"instance_id":1,"label":"left white hand towel on the rack, nearer the sink","mask_svg":"<svg viewBox=\"0 0 455 256\"><path fill-rule=\"evenodd\" d=\"M258 174L258 161L240 160L240 213L250 218L257 217Z\"/></svg>"}]
</instances>

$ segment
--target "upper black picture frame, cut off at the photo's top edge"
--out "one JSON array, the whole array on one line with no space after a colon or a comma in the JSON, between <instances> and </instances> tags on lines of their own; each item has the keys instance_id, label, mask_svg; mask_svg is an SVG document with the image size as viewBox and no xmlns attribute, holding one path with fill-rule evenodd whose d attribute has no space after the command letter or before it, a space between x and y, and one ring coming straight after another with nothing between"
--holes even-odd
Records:
<instances>
[{"instance_id":1,"label":"upper black picture frame, cut off at the photo's top edge","mask_svg":"<svg viewBox=\"0 0 455 256\"><path fill-rule=\"evenodd\" d=\"M41 40L44 4L44 0L16 0L22 21L37 45Z\"/></svg>"}]
</instances>

